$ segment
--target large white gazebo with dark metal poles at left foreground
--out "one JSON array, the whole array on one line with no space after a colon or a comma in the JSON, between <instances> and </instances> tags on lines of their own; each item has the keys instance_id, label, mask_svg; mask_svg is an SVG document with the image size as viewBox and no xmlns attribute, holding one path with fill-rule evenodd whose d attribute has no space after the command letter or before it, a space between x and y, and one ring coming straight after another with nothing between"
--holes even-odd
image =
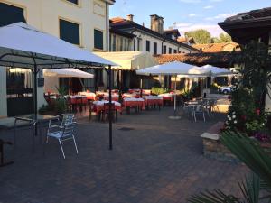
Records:
<instances>
[{"instance_id":1,"label":"large white gazebo with dark metal poles at left foreground","mask_svg":"<svg viewBox=\"0 0 271 203\"><path fill-rule=\"evenodd\" d=\"M41 69L108 66L117 64L89 51L64 42L51 34L39 31L26 23L0 27L0 66L31 69L33 72L34 118L37 119L37 79ZM111 81L109 82L111 85ZM109 87L111 101L111 87ZM112 149L112 120L109 119L110 149Z\"/></svg>"}]
</instances>

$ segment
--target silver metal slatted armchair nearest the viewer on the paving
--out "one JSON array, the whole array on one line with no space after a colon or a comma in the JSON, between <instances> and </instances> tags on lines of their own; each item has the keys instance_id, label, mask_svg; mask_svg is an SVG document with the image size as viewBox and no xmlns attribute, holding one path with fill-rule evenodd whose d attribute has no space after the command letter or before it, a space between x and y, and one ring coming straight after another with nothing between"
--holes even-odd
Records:
<instances>
[{"instance_id":1,"label":"silver metal slatted armchair nearest the viewer on the paving","mask_svg":"<svg viewBox=\"0 0 271 203\"><path fill-rule=\"evenodd\" d=\"M75 125L76 125L75 122L67 123L64 125L51 125L51 121L49 122L46 143L49 142L49 137L57 139L61 145L61 152L64 159L65 159L65 153L62 147L63 141L73 140L76 153L78 153L77 144L74 138Z\"/></svg>"}]
</instances>

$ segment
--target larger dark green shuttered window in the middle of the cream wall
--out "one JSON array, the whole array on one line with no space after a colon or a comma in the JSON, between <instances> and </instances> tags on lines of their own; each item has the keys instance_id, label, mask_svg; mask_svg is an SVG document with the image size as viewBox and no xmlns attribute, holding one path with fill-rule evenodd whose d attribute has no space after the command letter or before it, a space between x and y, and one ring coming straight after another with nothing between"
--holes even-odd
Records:
<instances>
[{"instance_id":1,"label":"larger dark green shuttered window in the middle of the cream wall","mask_svg":"<svg viewBox=\"0 0 271 203\"><path fill-rule=\"evenodd\" d=\"M60 38L63 41L80 45L80 25L60 19Z\"/></svg>"}]
</instances>

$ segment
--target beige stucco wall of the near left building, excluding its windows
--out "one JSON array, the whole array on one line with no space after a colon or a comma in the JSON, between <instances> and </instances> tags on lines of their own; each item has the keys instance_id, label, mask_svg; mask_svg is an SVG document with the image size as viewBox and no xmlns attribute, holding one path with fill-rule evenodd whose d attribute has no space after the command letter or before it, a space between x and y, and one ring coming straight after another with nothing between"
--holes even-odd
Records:
<instances>
[{"instance_id":1,"label":"beige stucco wall of the near left building, excluding its windows","mask_svg":"<svg viewBox=\"0 0 271 203\"><path fill-rule=\"evenodd\" d=\"M105 0L79 0L79 5L73 5L65 0L0 0L0 2L22 7L27 23L56 37L60 36L60 18L73 23L79 23L80 46L89 51L94 51L94 29L102 31L104 32L103 51L107 49ZM4 91L6 89L6 75L3 69L0 70L0 78L0 115L6 115L6 93ZM58 85L56 78L51 80L51 82L51 87ZM39 107L45 104L43 92L44 88L38 88Z\"/></svg>"}]
</instances>

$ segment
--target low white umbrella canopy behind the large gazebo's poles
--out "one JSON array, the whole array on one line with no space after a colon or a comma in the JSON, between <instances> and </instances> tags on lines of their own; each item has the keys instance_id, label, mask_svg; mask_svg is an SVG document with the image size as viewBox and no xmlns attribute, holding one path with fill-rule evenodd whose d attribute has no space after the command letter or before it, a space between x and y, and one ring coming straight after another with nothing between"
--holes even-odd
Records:
<instances>
[{"instance_id":1,"label":"low white umbrella canopy behind the large gazebo's poles","mask_svg":"<svg viewBox=\"0 0 271 203\"><path fill-rule=\"evenodd\" d=\"M79 69L46 69L44 76L60 78L94 78L93 74Z\"/></svg>"}]
</instances>

